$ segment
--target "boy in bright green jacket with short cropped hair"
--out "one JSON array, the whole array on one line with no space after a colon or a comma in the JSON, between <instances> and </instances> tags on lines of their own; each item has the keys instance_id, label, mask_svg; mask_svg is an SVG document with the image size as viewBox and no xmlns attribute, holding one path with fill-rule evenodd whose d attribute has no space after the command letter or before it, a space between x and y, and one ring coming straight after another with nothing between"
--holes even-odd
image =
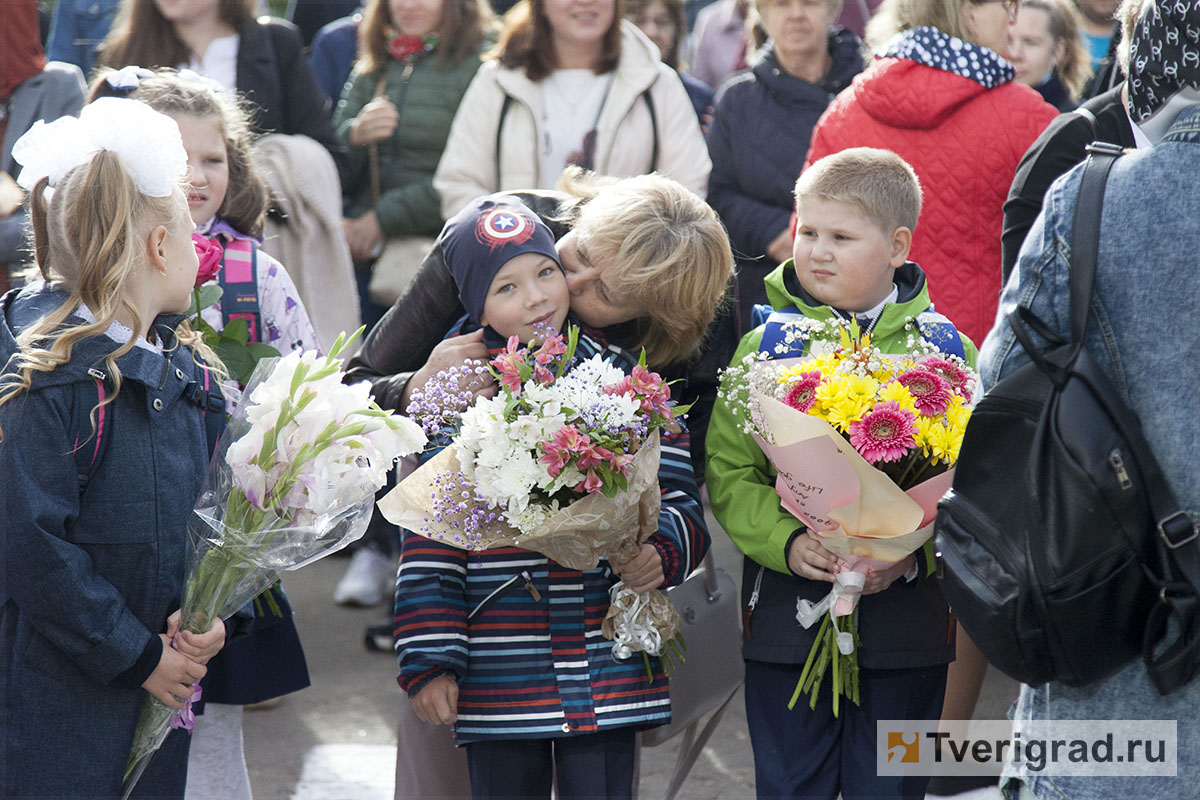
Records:
<instances>
[{"instance_id":1,"label":"boy in bright green jacket with short cropped hair","mask_svg":"<svg viewBox=\"0 0 1200 800\"><path fill-rule=\"evenodd\" d=\"M760 350L781 355L780 329L794 314L857 318L883 353L908 353L923 338L974 363L974 345L932 311L925 275L907 260L920 185L902 158L844 150L800 175L796 198L793 258L766 278L775 312L746 333L733 363ZM713 513L746 557L743 656L758 796L924 796L928 777L876 774L876 721L941 715L954 637L931 577L931 548L866 579L858 614L860 704L842 704L838 717L830 703L790 711L816 633L797 621L797 602L828 594L838 558L780 505L774 467L724 399L708 441Z\"/></svg>"}]
</instances>

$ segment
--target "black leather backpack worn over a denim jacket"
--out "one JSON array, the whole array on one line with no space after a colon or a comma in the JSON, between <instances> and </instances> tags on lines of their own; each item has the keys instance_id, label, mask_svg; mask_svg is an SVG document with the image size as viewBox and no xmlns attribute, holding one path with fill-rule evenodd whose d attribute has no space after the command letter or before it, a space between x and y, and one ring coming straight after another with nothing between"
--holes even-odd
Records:
<instances>
[{"instance_id":1,"label":"black leather backpack worn over a denim jacket","mask_svg":"<svg viewBox=\"0 0 1200 800\"><path fill-rule=\"evenodd\" d=\"M1027 307L1031 362L990 387L938 505L942 589L988 661L1081 686L1139 655L1159 692L1200 667L1200 546L1138 416L1084 349L1115 145L1091 145L1070 255L1070 339ZM1038 347L1036 331L1048 344Z\"/></svg>"}]
</instances>

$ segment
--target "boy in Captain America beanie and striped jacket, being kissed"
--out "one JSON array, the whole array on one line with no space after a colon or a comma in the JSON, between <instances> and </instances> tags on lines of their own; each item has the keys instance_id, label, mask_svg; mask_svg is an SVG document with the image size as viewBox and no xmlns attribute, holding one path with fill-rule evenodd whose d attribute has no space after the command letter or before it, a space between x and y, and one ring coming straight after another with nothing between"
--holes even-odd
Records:
<instances>
[{"instance_id":1,"label":"boy in Captain America beanie and striped jacket, being kissed","mask_svg":"<svg viewBox=\"0 0 1200 800\"><path fill-rule=\"evenodd\" d=\"M553 236L518 200L475 200L439 247L468 312L451 333L482 329L484 347L498 349L509 336L540 342L568 320ZM576 360L598 353L634 367L582 333ZM634 734L670 721L668 684L656 660L649 675L640 657L616 660L601 622L618 575L635 591L678 584L708 548L686 446L685 432L665 437L659 528L624 564L570 570L517 547L467 552L404 533L398 681L421 720L454 726L473 796L550 798L553 776L560 798L631 796Z\"/></svg>"}]
</instances>

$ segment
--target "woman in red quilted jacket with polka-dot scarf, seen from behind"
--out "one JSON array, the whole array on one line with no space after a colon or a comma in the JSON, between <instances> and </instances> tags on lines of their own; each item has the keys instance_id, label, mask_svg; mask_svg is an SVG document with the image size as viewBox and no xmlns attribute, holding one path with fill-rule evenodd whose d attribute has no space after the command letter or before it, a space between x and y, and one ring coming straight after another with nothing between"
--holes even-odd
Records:
<instances>
[{"instance_id":1,"label":"woman in red quilted jacket with polka-dot scarf, seen from behind","mask_svg":"<svg viewBox=\"0 0 1200 800\"><path fill-rule=\"evenodd\" d=\"M884 0L868 26L880 55L834 98L808 163L883 148L925 190L912 260L938 312L982 342L1000 295L1003 204L1016 163L1057 110L1004 60L1016 0Z\"/></svg>"}]
</instances>

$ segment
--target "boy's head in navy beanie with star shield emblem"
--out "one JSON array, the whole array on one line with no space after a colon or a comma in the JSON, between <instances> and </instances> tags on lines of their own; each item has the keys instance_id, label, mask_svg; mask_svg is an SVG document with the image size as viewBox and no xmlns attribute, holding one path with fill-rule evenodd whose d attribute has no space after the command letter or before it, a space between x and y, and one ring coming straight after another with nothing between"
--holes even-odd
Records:
<instances>
[{"instance_id":1,"label":"boy's head in navy beanie with star shield emblem","mask_svg":"<svg viewBox=\"0 0 1200 800\"><path fill-rule=\"evenodd\" d=\"M522 344L562 330L570 311L554 236L512 197L481 197L456 213L438 237L467 309L460 333L484 329L488 348L510 336Z\"/></svg>"}]
</instances>

